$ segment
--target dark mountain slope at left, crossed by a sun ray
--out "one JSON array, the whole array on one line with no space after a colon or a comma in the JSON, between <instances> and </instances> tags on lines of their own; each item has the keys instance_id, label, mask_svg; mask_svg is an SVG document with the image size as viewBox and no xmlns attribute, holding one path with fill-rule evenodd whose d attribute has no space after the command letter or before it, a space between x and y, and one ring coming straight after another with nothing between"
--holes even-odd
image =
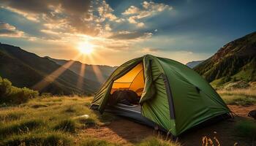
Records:
<instances>
[{"instance_id":1,"label":"dark mountain slope at left, crossed by a sun ray","mask_svg":"<svg viewBox=\"0 0 256 146\"><path fill-rule=\"evenodd\" d=\"M99 88L98 82L80 77L48 58L1 43L0 76L9 79L17 87L26 86L53 94L91 94Z\"/></svg>"}]
</instances>

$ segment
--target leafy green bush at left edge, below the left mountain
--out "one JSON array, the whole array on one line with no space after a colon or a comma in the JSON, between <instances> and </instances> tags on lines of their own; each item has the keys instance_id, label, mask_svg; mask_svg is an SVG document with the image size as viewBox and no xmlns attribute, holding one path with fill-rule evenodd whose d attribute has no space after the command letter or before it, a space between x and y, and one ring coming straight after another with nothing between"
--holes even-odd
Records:
<instances>
[{"instance_id":1,"label":"leafy green bush at left edge, below the left mountain","mask_svg":"<svg viewBox=\"0 0 256 146\"><path fill-rule=\"evenodd\" d=\"M17 88L12 86L12 83L7 79L0 77L0 103L7 104L22 104L29 99L38 96L38 91L33 91L29 88Z\"/></svg>"}]
</instances>

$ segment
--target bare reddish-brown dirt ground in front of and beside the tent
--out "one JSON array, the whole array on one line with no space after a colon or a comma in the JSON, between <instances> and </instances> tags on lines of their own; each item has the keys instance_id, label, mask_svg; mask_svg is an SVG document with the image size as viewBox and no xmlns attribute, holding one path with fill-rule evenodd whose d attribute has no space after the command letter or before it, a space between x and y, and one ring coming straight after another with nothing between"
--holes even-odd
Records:
<instances>
[{"instance_id":1,"label":"bare reddish-brown dirt ground in front of and beside the tent","mask_svg":"<svg viewBox=\"0 0 256 146\"><path fill-rule=\"evenodd\" d=\"M251 107L230 105L228 107L236 113L234 120L225 120L211 126L196 128L178 137L178 142L185 146L206 145L206 141L208 141L208 145L211 142L214 145L252 145L252 142L247 139L236 136L233 127L238 120L249 118L247 116L248 112L255 110L256 105ZM143 126L125 118L118 118L108 126L83 129L79 137L83 137L84 134L121 145L133 145L149 136L158 136L163 139L166 137L165 134L159 134L151 127Z\"/></svg>"}]
</instances>

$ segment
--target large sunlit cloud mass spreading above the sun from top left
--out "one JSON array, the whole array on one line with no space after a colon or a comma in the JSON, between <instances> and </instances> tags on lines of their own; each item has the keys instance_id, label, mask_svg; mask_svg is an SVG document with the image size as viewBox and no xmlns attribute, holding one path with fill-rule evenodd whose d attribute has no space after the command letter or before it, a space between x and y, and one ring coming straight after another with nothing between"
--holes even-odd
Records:
<instances>
[{"instance_id":1,"label":"large sunlit cloud mass spreading above the sun from top left","mask_svg":"<svg viewBox=\"0 0 256 146\"><path fill-rule=\"evenodd\" d=\"M144 1L141 5L141 9L135 6L129 7L122 15L116 15L114 9L105 0L78 0L75 2L72 0L9 0L3 1L1 8L8 9L39 24L40 27L37 29L42 35L37 37L37 34L26 34L29 38L68 42L85 36L101 37L112 42L103 47L118 49L129 48L132 43L152 36L151 32L140 32L137 28L132 28L133 31L129 31L131 26L129 23L142 28L146 24L141 19L151 16L154 12L170 9L165 4L154 2ZM125 29L122 28L124 22L129 22L129 26ZM120 29L117 29L118 27ZM19 35L22 34L22 31L16 31L19 32ZM102 42L98 44L102 44Z\"/></svg>"}]
</instances>

